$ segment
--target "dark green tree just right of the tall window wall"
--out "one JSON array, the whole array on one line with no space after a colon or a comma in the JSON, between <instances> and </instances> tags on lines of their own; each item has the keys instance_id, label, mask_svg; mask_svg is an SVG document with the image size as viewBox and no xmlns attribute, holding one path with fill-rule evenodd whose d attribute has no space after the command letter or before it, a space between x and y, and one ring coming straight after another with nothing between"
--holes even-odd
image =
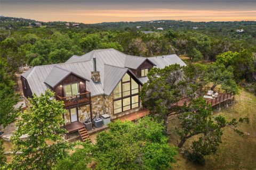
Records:
<instances>
[{"instance_id":1,"label":"dark green tree just right of the tall window wall","mask_svg":"<svg viewBox=\"0 0 256 170\"><path fill-rule=\"evenodd\" d=\"M194 94L194 87L178 64L166 66L164 69L153 68L148 73L148 82L143 84L140 92L142 105L151 114L160 116L167 121L172 105L182 97Z\"/></svg>"}]
</instances>

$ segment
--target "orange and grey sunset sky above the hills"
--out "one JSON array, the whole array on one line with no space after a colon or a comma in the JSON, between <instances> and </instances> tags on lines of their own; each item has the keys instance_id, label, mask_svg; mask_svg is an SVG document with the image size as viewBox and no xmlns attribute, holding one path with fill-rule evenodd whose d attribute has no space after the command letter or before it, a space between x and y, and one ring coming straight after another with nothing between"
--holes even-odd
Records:
<instances>
[{"instance_id":1,"label":"orange and grey sunset sky above the hills","mask_svg":"<svg viewBox=\"0 0 256 170\"><path fill-rule=\"evenodd\" d=\"M45 22L256 21L256 0L0 0L0 14Z\"/></svg>"}]
</instances>

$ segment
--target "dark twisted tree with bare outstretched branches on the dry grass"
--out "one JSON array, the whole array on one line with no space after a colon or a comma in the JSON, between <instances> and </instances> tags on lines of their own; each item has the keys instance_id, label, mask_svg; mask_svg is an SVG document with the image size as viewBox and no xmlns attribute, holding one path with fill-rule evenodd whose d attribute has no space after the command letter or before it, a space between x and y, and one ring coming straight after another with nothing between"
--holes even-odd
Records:
<instances>
[{"instance_id":1,"label":"dark twisted tree with bare outstretched branches on the dry grass","mask_svg":"<svg viewBox=\"0 0 256 170\"><path fill-rule=\"evenodd\" d=\"M207 107L203 98L193 99L189 105L186 104L179 111L178 115L181 127L177 128L180 142L178 147L183 147L184 143L193 138L190 151L187 151L190 160L204 163L204 156L214 154L220 143L223 128L231 128L239 135L243 132L237 129L239 123L249 123L248 118L235 118L227 121L225 117L212 116L211 107Z\"/></svg>"}]
</instances>

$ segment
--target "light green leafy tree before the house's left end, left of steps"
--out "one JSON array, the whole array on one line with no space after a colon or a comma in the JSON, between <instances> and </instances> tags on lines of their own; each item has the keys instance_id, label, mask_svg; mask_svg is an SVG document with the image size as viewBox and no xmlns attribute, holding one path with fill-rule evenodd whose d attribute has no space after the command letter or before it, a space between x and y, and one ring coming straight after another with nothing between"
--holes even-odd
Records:
<instances>
[{"instance_id":1,"label":"light green leafy tree before the house's left end, left of steps","mask_svg":"<svg viewBox=\"0 0 256 170\"><path fill-rule=\"evenodd\" d=\"M9 166L13 169L50 169L60 158L67 155L69 145L61 134L64 123L62 114L66 113L63 103L52 99L54 93L49 89L45 94L29 98L28 111L20 113L18 129L11 138L16 154ZM28 135L26 140L20 139ZM20 152L21 154L17 153Z\"/></svg>"}]
</instances>

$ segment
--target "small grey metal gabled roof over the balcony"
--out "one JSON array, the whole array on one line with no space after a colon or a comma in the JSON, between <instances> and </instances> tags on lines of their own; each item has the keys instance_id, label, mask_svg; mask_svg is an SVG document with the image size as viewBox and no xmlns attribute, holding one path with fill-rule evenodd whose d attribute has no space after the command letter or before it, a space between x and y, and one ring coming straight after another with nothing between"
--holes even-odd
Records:
<instances>
[{"instance_id":1,"label":"small grey metal gabled roof over the balcony","mask_svg":"<svg viewBox=\"0 0 256 170\"><path fill-rule=\"evenodd\" d=\"M58 66L54 66L53 69L51 70L51 72L48 74L48 76L45 78L45 83L48 84L49 86L51 86L52 88L54 88L55 86L57 86L62 80L64 80L65 78L67 78L70 74L74 74L77 77L84 79L86 81L89 81L83 77L81 77L80 75L77 75L71 71L62 69Z\"/></svg>"}]
</instances>

